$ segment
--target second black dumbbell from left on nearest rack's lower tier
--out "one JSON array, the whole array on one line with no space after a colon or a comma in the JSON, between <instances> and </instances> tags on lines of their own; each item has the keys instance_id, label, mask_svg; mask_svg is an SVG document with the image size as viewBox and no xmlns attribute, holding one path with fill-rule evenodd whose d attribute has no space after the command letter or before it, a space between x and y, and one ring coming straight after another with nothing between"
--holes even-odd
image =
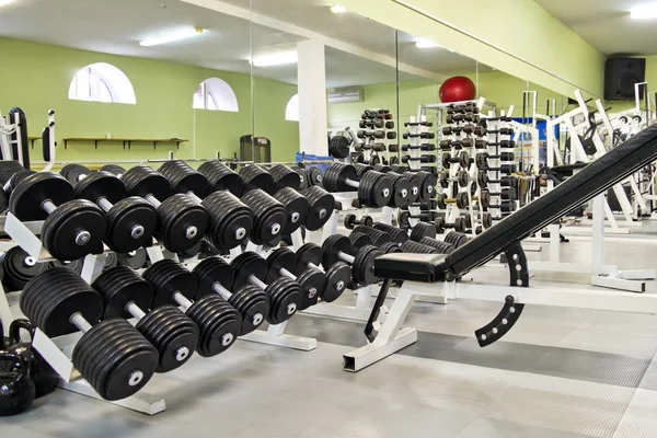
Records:
<instances>
[{"instance_id":1,"label":"second black dumbbell from left on nearest rack's lower tier","mask_svg":"<svg viewBox=\"0 0 657 438\"><path fill-rule=\"evenodd\" d=\"M135 327L158 350L157 372L183 366L198 344L198 326L175 306L162 306L151 312L153 287L127 266L105 270L91 285L105 300L103 319L136 318Z\"/></svg>"}]
</instances>

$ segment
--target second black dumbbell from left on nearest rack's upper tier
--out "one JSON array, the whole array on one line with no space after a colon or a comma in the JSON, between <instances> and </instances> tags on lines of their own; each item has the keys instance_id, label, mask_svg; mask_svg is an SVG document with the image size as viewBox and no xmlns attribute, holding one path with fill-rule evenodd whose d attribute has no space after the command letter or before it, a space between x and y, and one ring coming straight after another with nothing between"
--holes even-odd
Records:
<instances>
[{"instance_id":1,"label":"second black dumbbell from left on nearest rack's upper tier","mask_svg":"<svg viewBox=\"0 0 657 438\"><path fill-rule=\"evenodd\" d=\"M76 197L88 199L105 211L107 232L105 243L112 251L128 253L150 245L158 226L155 208L147 200L128 197L124 183L110 172L95 172L88 175L67 172L74 185Z\"/></svg>"}]
</instances>

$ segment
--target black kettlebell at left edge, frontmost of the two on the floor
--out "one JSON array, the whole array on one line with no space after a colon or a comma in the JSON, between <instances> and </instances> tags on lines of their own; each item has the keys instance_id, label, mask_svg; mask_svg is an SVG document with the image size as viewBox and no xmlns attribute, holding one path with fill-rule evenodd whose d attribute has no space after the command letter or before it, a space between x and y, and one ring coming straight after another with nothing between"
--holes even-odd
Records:
<instances>
[{"instance_id":1,"label":"black kettlebell at left edge, frontmost of the two on the floor","mask_svg":"<svg viewBox=\"0 0 657 438\"><path fill-rule=\"evenodd\" d=\"M32 405L36 395L30 379L30 362L20 355L0 351L0 416L16 415Z\"/></svg>"}]
</instances>

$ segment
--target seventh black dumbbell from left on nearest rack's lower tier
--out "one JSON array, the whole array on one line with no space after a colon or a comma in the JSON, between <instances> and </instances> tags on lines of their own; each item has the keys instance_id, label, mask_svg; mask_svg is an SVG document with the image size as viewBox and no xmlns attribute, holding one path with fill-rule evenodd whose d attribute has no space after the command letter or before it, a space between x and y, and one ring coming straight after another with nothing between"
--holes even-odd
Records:
<instances>
[{"instance_id":1,"label":"seventh black dumbbell from left on nearest rack's lower tier","mask_svg":"<svg viewBox=\"0 0 657 438\"><path fill-rule=\"evenodd\" d=\"M307 243L297 250L297 265L295 275L301 275L308 269L318 269L324 273L324 290L320 298L322 301L337 300L347 288L351 279L351 268L344 262L338 262L324 270L322 268L322 249L314 243Z\"/></svg>"}]
</instances>

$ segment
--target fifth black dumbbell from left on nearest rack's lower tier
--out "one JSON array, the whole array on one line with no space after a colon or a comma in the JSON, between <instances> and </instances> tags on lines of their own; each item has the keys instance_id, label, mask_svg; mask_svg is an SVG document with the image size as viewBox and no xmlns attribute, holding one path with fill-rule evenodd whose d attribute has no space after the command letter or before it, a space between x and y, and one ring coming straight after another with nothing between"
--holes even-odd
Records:
<instances>
[{"instance_id":1,"label":"fifth black dumbbell from left on nearest rack's lower tier","mask_svg":"<svg viewBox=\"0 0 657 438\"><path fill-rule=\"evenodd\" d=\"M235 273L233 288L240 289L253 285L264 290L269 297L269 312L266 315L269 324L280 324L292 318L301 306L301 286L288 277L279 277L265 284L268 265L260 254L245 252L231 262Z\"/></svg>"}]
</instances>

